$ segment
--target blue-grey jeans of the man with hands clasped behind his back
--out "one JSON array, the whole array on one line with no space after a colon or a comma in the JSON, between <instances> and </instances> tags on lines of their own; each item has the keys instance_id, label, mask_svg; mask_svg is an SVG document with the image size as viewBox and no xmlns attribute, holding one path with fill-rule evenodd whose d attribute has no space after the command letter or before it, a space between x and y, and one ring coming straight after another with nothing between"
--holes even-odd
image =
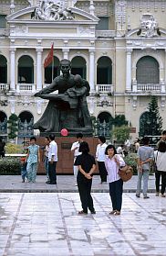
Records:
<instances>
[{"instance_id":1,"label":"blue-grey jeans of the man with hands clasped behind his back","mask_svg":"<svg viewBox=\"0 0 166 256\"><path fill-rule=\"evenodd\" d=\"M142 173L138 172L138 182L137 182L137 195L140 195L141 192L141 179L143 177L143 196L147 196L148 191L148 179L149 179L149 170L142 170Z\"/></svg>"}]
</instances>

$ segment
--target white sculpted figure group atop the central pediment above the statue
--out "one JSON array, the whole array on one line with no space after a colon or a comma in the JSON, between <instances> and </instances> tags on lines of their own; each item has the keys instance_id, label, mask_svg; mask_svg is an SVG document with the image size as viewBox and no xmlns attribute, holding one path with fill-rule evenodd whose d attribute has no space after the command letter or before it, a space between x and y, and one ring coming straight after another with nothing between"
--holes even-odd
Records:
<instances>
[{"instance_id":1,"label":"white sculpted figure group atop the central pediment above the statue","mask_svg":"<svg viewBox=\"0 0 166 256\"><path fill-rule=\"evenodd\" d=\"M41 20L73 20L74 14L67 8L66 1L39 1L31 14L32 19Z\"/></svg>"}]
</instances>

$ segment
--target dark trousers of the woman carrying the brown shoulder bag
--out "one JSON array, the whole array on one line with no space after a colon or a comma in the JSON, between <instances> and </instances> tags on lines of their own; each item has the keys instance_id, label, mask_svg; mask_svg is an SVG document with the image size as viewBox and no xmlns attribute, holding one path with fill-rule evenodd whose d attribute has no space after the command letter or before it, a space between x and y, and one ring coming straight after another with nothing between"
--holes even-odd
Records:
<instances>
[{"instance_id":1,"label":"dark trousers of the woman carrying the brown shoulder bag","mask_svg":"<svg viewBox=\"0 0 166 256\"><path fill-rule=\"evenodd\" d=\"M109 195L112 202L112 209L120 211L122 205L123 181L119 179L109 184Z\"/></svg>"}]
</instances>

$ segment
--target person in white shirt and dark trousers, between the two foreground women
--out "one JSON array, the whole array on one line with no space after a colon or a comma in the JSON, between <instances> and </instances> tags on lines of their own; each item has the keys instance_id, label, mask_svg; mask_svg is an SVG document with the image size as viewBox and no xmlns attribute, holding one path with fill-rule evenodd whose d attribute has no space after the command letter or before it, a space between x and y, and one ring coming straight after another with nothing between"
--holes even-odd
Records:
<instances>
[{"instance_id":1,"label":"person in white shirt and dark trousers, between the two foreground women","mask_svg":"<svg viewBox=\"0 0 166 256\"><path fill-rule=\"evenodd\" d=\"M106 171L104 161L106 159L105 151L108 145L106 144L106 138L104 136L99 136L98 139L99 139L99 144L96 150L96 160L98 161L98 166L99 166L99 175L101 179L100 184L107 184L108 173Z\"/></svg>"}]
</instances>

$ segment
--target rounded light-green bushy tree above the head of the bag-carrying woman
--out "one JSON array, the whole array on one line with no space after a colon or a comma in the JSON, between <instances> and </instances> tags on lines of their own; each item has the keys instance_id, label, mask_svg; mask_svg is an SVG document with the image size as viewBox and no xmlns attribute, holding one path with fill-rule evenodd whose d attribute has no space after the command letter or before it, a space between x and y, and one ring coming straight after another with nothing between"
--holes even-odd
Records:
<instances>
[{"instance_id":1,"label":"rounded light-green bushy tree above the head of the bag-carrying woman","mask_svg":"<svg viewBox=\"0 0 166 256\"><path fill-rule=\"evenodd\" d=\"M114 128L112 131L112 138L119 144L124 144L125 140L130 138L130 128L128 126Z\"/></svg>"}]
</instances>

